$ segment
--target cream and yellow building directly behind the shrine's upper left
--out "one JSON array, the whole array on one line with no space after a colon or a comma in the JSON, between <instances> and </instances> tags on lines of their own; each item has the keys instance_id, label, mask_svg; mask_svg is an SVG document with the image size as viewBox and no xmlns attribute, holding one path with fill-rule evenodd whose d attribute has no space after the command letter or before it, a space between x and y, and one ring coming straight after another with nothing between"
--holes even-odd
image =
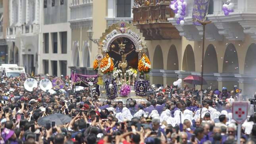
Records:
<instances>
[{"instance_id":1,"label":"cream and yellow building directly behind the shrine's upper left","mask_svg":"<svg viewBox=\"0 0 256 144\"><path fill-rule=\"evenodd\" d=\"M77 73L95 73L91 67L98 54L98 39L112 23L132 22L132 7L133 0L70 0L70 70L75 68Z\"/></svg>"}]
</instances>

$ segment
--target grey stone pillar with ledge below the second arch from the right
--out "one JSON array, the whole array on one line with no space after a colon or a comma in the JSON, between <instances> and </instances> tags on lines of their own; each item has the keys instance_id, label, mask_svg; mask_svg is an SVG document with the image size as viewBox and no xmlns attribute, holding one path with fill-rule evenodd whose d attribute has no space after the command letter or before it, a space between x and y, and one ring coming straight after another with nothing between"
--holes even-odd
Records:
<instances>
[{"instance_id":1,"label":"grey stone pillar with ledge below the second arch from the right","mask_svg":"<svg viewBox=\"0 0 256 144\"><path fill-rule=\"evenodd\" d=\"M226 87L228 91L233 90L234 85L238 85L237 77L234 73L214 73L217 77L218 89L221 91L222 87Z\"/></svg>"}]
</instances>

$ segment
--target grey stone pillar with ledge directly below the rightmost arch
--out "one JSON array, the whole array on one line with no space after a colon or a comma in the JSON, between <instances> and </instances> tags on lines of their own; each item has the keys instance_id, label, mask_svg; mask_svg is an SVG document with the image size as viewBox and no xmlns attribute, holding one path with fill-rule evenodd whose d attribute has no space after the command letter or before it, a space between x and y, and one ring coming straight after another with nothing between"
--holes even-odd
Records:
<instances>
[{"instance_id":1,"label":"grey stone pillar with ledge directly below the rightmost arch","mask_svg":"<svg viewBox=\"0 0 256 144\"><path fill-rule=\"evenodd\" d=\"M235 74L235 77L238 78L242 94L251 96L256 92L256 75Z\"/></svg>"}]
</instances>

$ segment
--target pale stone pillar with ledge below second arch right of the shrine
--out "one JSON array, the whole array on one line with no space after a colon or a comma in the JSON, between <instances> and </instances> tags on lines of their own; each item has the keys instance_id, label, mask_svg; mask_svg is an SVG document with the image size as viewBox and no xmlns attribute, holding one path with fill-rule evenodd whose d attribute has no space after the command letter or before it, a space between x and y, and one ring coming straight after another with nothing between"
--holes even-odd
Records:
<instances>
[{"instance_id":1,"label":"pale stone pillar with ledge below second arch right of the shrine","mask_svg":"<svg viewBox=\"0 0 256 144\"><path fill-rule=\"evenodd\" d=\"M175 70L160 70L161 73L163 73L164 77L164 86L167 85L172 85L174 81L177 80L177 74L175 73Z\"/></svg>"}]
</instances>

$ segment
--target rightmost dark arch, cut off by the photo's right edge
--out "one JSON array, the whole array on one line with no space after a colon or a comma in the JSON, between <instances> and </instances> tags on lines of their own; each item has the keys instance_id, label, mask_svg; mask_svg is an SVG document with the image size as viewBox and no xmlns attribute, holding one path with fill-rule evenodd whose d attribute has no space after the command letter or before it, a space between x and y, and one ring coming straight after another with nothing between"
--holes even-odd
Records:
<instances>
[{"instance_id":1,"label":"rightmost dark arch, cut off by the photo's right edge","mask_svg":"<svg viewBox=\"0 0 256 144\"><path fill-rule=\"evenodd\" d=\"M256 44L252 43L246 52L244 74L256 74Z\"/></svg>"}]
</instances>

